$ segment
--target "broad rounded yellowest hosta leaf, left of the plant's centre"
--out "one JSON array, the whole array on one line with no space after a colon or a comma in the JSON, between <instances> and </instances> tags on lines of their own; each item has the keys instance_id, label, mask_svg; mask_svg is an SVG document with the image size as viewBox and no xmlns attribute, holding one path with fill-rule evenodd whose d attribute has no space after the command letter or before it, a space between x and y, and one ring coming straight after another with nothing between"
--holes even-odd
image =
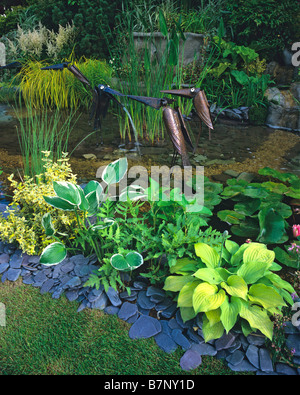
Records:
<instances>
[{"instance_id":1,"label":"broad rounded yellowest hosta leaf, left of the plant's centre","mask_svg":"<svg viewBox=\"0 0 300 395\"><path fill-rule=\"evenodd\" d=\"M225 292L214 284L201 283L193 293L193 307L196 313L215 310L225 300Z\"/></svg>"}]
</instances>

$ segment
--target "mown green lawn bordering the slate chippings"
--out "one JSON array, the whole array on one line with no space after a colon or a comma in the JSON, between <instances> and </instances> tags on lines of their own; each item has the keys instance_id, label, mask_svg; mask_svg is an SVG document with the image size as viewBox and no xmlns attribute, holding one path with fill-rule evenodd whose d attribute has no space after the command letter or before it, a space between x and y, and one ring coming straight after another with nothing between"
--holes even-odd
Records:
<instances>
[{"instance_id":1,"label":"mown green lawn bordering the slate chippings","mask_svg":"<svg viewBox=\"0 0 300 395\"><path fill-rule=\"evenodd\" d=\"M222 361L203 357L184 372L183 351L164 353L153 338L131 340L130 325L99 310L77 312L63 295L0 283L6 325L0 326L0 375L231 375Z\"/></svg>"}]
</instances>

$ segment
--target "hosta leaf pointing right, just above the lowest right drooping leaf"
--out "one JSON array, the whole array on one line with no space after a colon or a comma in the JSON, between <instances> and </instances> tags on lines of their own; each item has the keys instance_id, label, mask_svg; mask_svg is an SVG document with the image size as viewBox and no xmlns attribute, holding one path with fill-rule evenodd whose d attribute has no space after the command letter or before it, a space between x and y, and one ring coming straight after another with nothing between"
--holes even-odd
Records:
<instances>
[{"instance_id":1,"label":"hosta leaf pointing right, just above the lowest right drooping leaf","mask_svg":"<svg viewBox=\"0 0 300 395\"><path fill-rule=\"evenodd\" d=\"M274 288L264 284L254 284L249 289L249 300L253 303L261 304L265 309L286 306L282 297Z\"/></svg>"}]
</instances>

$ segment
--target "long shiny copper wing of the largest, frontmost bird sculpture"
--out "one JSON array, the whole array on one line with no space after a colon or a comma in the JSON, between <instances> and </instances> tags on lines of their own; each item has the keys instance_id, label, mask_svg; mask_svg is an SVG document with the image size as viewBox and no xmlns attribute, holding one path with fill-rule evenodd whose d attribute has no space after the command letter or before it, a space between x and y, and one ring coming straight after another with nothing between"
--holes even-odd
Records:
<instances>
[{"instance_id":1,"label":"long shiny copper wing of the largest, frontmost bird sculpture","mask_svg":"<svg viewBox=\"0 0 300 395\"><path fill-rule=\"evenodd\" d=\"M182 165L190 166L190 160L178 112L171 107L165 107L163 110L163 120L174 149L181 156Z\"/></svg>"}]
</instances>

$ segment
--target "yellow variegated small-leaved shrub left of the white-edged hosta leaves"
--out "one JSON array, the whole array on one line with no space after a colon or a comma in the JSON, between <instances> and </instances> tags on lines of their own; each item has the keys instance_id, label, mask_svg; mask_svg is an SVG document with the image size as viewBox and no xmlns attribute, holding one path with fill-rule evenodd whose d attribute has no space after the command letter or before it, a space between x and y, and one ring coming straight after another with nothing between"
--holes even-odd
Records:
<instances>
[{"instance_id":1,"label":"yellow variegated small-leaved shrub left of the white-edged hosta leaves","mask_svg":"<svg viewBox=\"0 0 300 395\"><path fill-rule=\"evenodd\" d=\"M58 212L43 197L53 195L53 181L76 183L67 154L64 153L56 162L49 159L50 152L44 152L44 155L44 173L35 177L25 176L21 182L16 181L13 174L9 177L13 199L7 207L7 218L0 216L0 238L9 243L16 242L29 255L40 254L53 241L46 237L42 226L46 213L51 212L53 224L59 232L68 232L69 237L76 232L74 213Z\"/></svg>"}]
</instances>

